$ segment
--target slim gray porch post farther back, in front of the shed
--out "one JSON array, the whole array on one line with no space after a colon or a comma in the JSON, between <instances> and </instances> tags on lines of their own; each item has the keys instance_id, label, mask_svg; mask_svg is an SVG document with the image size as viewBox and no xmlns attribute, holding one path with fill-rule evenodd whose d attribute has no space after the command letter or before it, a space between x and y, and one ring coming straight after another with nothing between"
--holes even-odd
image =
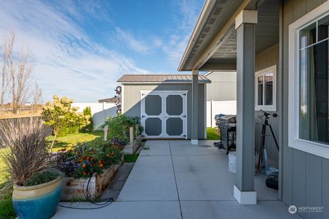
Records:
<instances>
[{"instance_id":1,"label":"slim gray porch post farther back, in front of the shed","mask_svg":"<svg viewBox=\"0 0 329 219\"><path fill-rule=\"evenodd\" d=\"M199 70L192 71L192 127L191 127L191 144L198 144L199 128Z\"/></svg>"}]
</instances>

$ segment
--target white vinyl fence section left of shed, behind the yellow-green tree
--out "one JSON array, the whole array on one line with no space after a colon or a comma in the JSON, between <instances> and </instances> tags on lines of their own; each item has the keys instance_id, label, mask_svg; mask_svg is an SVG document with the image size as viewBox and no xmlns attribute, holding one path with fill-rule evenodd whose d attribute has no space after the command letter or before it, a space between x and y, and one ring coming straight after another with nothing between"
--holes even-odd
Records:
<instances>
[{"instance_id":1,"label":"white vinyl fence section left of shed, behind the yellow-green tree","mask_svg":"<svg viewBox=\"0 0 329 219\"><path fill-rule=\"evenodd\" d=\"M73 103L73 107L79 107L78 112L90 107L93 116L94 128L102 125L109 116L117 116L117 106L115 103Z\"/></svg>"}]
</instances>

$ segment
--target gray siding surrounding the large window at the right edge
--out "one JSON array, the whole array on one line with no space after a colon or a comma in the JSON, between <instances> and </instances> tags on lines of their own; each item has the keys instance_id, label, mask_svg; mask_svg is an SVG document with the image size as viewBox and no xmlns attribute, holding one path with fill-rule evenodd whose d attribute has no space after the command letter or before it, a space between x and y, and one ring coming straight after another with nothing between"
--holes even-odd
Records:
<instances>
[{"instance_id":1,"label":"gray siding surrounding the large window at the right edge","mask_svg":"<svg viewBox=\"0 0 329 219\"><path fill-rule=\"evenodd\" d=\"M321 0L286 0L282 5L282 201L287 205L323 206L324 213L300 214L304 218L329 218L329 162L288 146L288 27Z\"/></svg>"}]
</instances>

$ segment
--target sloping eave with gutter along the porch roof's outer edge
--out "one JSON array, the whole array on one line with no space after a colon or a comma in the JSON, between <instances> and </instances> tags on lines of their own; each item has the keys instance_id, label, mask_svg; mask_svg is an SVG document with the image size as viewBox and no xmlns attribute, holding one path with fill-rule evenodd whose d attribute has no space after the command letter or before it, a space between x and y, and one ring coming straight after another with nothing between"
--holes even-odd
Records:
<instances>
[{"instance_id":1,"label":"sloping eave with gutter along the porch roof's outer edge","mask_svg":"<svg viewBox=\"0 0 329 219\"><path fill-rule=\"evenodd\" d=\"M206 0L178 70L199 69L200 59L210 55L234 25L235 17L252 0Z\"/></svg>"}]
</instances>

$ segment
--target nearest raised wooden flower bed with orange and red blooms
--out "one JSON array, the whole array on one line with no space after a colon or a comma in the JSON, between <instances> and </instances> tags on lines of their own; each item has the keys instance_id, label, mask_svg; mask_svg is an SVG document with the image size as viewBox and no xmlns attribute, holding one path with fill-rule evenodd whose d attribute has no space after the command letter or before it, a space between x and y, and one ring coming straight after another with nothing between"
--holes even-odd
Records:
<instances>
[{"instance_id":1,"label":"nearest raised wooden flower bed with orange and red blooms","mask_svg":"<svg viewBox=\"0 0 329 219\"><path fill-rule=\"evenodd\" d=\"M56 155L57 168L65 173L63 201L72 198L98 198L119 168L123 145L117 140L79 143ZM88 188L88 192L87 192Z\"/></svg>"}]
</instances>

